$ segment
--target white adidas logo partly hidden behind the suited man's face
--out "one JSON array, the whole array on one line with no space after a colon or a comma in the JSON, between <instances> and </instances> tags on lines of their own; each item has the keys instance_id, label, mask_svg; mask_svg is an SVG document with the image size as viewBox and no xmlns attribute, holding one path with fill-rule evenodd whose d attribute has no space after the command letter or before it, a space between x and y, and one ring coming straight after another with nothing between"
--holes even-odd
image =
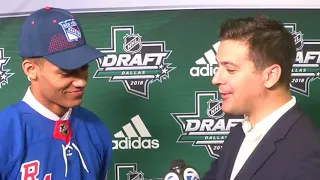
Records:
<instances>
[{"instance_id":1,"label":"white adidas logo partly hidden behind the suited man's face","mask_svg":"<svg viewBox=\"0 0 320 180\"><path fill-rule=\"evenodd\" d=\"M204 53L204 57L196 60L196 65L191 67L190 75L192 77L199 77L199 76L213 76L217 70L217 61L216 61L216 53L218 47L220 45L220 41L212 45L213 49L208 50Z\"/></svg>"}]
</instances>

